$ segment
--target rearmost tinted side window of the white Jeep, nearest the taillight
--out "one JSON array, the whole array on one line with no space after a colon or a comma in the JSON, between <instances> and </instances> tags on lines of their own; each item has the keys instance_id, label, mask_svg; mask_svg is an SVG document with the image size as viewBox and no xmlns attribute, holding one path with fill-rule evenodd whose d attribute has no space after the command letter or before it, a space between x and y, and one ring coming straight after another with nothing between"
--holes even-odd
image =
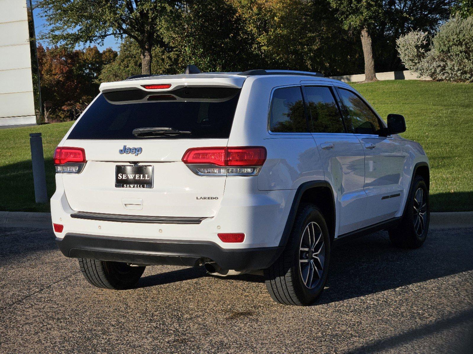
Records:
<instances>
[{"instance_id":1,"label":"rearmost tinted side window of the white Jeep, nearest the taillight","mask_svg":"<svg viewBox=\"0 0 473 354\"><path fill-rule=\"evenodd\" d=\"M300 86L274 90L270 105L273 133L307 133L307 121Z\"/></svg>"}]
</instances>

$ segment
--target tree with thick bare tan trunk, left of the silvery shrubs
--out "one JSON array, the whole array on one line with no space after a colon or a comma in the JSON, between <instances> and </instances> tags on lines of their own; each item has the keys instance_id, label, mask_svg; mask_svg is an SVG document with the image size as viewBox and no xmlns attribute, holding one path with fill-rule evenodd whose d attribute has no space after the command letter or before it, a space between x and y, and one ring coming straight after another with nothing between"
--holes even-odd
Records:
<instances>
[{"instance_id":1,"label":"tree with thick bare tan trunk, left of the silvery shrubs","mask_svg":"<svg viewBox=\"0 0 473 354\"><path fill-rule=\"evenodd\" d=\"M330 0L345 29L360 34L365 59L365 80L376 81L371 32L384 18L382 0Z\"/></svg>"}]
</instances>

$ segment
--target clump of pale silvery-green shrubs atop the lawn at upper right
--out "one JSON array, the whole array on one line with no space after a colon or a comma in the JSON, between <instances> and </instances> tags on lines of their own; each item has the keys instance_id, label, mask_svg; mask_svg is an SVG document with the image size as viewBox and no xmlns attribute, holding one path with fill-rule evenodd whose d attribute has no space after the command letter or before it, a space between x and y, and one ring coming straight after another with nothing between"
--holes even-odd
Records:
<instances>
[{"instance_id":1,"label":"clump of pale silvery-green shrubs atop the lawn at upper right","mask_svg":"<svg viewBox=\"0 0 473 354\"><path fill-rule=\"evenodd\" d=\"M451 18L440 26L429 51L428 42L420 31L397 40L405 67L435 81L473 82L473 16Z\"/></svg>"}]
</instances>

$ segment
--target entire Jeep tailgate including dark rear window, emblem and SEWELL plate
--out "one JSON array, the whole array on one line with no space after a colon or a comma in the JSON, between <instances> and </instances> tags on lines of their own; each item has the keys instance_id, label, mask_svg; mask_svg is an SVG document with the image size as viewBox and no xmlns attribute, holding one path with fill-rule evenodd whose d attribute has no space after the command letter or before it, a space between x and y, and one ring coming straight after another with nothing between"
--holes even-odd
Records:
<instances>
[{"instance_id":1,"label":"entire Jeep tailgate including dark rear window, emblem and SEWELL plate","mask_svg":"<svg viewBox=\"0 0 473 354\"><path fill-rule=\"evenodd\" d=\"M121 88L100 94L62 142L83 148L87 160L80 173L62 173L70 207L108 214L214 216L226 177L198 176L182 158L189 148L227 146L240 90L181 86L162 93ZM177 133L161 129L137 136L136 128ZM117 184L123 172L127 179ZM150 183L143 185L143 179Z\"/></svg>"}]
</instances>

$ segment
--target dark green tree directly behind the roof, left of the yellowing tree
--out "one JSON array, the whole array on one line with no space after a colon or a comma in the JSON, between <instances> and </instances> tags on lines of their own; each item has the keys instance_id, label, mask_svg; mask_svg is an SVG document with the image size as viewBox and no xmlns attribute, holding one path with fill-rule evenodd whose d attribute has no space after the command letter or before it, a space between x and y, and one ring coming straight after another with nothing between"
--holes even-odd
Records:
<instances>
[{"instance_id":1,"label":"dark green tree directly behind the roof, left of the yellowing tree","mask_svg":"<svg viewBox=\"0 0 473 354\"><path fill-rule=\"evenodd\" d=\"M231 0L193 0L166 26L166 40L180 66L202 71L246 70L258 62L245 19Z\"/></svg>"}]
</instances>

